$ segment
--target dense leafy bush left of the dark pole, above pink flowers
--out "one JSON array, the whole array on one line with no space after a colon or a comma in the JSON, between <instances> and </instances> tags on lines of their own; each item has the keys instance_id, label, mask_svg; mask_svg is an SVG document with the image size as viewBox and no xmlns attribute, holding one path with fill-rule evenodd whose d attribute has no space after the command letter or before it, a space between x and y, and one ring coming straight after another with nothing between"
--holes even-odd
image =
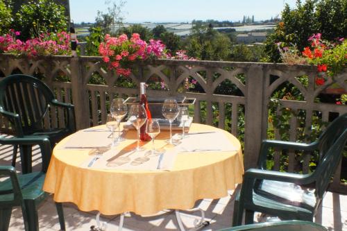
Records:
<instances>
[{"instance_id":1,"label":"dense leafy bush left of the dark pole, above pink flowers","mask_svg":"<svg viewBox=\"0 0 347 231\"><path fill-rule=\"evenodd\" d=\"M15 15L15 29L27 40L42 33L66 31L65 7L49 0L28 1Z\"/></svg>"}]
</instances>

